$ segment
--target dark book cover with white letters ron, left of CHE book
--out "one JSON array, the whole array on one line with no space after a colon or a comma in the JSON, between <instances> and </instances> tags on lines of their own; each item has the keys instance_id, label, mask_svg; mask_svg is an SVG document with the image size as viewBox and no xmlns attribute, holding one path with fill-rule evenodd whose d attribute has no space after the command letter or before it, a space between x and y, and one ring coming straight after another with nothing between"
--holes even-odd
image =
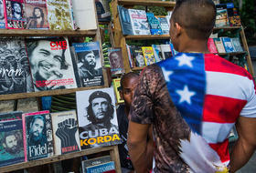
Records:
<instances>
[{"instance_id":1,"label":"dark book cover with white letters ron, left of CHE book","mask_svg":"<svg viewBox=\"0 0 256 173\"><path fill-rule=\"evenodd\" d=\"M33 91L24 40L1 38L0 47L0 94Z\"/></svg>"}]
</instances>

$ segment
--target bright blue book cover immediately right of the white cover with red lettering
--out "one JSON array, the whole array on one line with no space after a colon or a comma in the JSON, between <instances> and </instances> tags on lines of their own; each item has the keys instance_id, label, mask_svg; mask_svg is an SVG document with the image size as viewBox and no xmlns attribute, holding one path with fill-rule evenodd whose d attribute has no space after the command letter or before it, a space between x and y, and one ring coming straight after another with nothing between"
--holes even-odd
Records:
<instances>
[{"instance_id":1,"label":"bright blue book cover immediately right of the white cover with red lettering","mask_svg":"<svg viewBox=\"0 0 256 173\"><path fill-rule=\"evenodd\" d=\"M160 22L154 13L146 13L151 35L163 35Z\"/></svg>"}]
</instances>

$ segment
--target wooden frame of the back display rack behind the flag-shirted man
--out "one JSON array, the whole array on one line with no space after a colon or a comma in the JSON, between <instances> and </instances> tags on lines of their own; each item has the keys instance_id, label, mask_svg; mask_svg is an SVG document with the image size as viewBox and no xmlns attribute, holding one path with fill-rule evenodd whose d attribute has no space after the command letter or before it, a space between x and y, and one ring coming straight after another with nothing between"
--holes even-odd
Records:
<instances>
[{"instance_id":1,"label":"wooden frame of the back display rack behind the flag-shirted man","mask_svg":"<svg viewBox=\"0 0 256 173\"><path fill-rule=\"evenodd\" d=\"M125 73L130 71L140 71L144 68L142 67L130 67L128 53L126 49L126 40L150 40L150 39L170 39L168 35L158 35L158 36L123 36L122 27L120 24L119 14L117 10L117 5L123 5L126 8L132 8L134 5L144 5L144 6L163 6L166 10L171 11L173 10L175 3L170 1L144 1L144 0L112 0L112 16L113 16L113 36L114 36L114 45L122 47L123 51L123 65L125 69ZM214 31L223 30L236 30L240 29L240 38L242 42L243 52L236 52L236 53L222 53L219 56L236 56L246 54L247 64L249 67L249 72L251 76L254 76L253 67L251 63L251 56L249 52L249 48L247 45L246 37L244 34L244 29L242 26L225 26L225 27L218 27L214 28Z\"/></svg>"}]
</instances>

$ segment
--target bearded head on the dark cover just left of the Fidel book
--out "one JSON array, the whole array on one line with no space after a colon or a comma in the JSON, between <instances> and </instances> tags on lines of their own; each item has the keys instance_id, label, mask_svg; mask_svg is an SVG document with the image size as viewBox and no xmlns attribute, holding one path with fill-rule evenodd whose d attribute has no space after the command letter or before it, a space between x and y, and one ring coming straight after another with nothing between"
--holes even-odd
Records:
<instances>
[{"instance_id":1,"label":"bearded head on the dark cover just left of the Fidel book","mask_svg":"<svg viewBox=\"0 0 256 173\"><path fill-rule=\"evenodd\" d=\"M5 151L13 155L20 150L20 148L18 147L18 142L20 141L17 135L19 134L13 131L6 132L3 138L3 146L5 148Z\"/></svg>"}]
</instances>

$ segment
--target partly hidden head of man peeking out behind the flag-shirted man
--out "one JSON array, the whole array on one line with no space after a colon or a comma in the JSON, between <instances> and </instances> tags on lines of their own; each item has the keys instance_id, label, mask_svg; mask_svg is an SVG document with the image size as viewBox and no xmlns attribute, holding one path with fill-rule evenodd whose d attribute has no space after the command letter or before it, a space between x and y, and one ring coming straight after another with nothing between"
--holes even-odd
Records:
<instances>
[{"instance_id":1,"label":"partly hidden head of man peeking out behind the flag-shirted man","mask_svg":"<svg viewBox=\"0 0 256 173\"><path fill-rule=\"evenodd\" d=\"M122 76L119 90L120 97L123 98L125 106L131 107L134 95L134 89L137 86L139 75L133 72L127 73Z\"/></svg>"}]
</instances>

